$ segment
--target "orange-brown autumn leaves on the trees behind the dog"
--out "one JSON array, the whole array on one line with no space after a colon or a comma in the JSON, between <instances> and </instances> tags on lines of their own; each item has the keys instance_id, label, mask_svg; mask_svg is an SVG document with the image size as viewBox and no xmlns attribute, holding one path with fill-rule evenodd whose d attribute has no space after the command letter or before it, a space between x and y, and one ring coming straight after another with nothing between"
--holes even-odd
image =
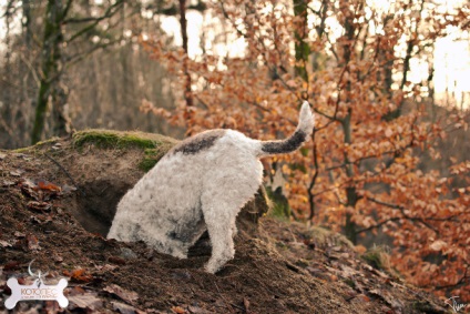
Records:
<instances>
[{"instance_id":1,"label":"orange-brown autumn leaves on the trees behind the dog","mask_svg":"<svg viewBox=\"0 0 470 314\"><path fill-rule=\"evenodd\" d=\"M443 12L427 1L385 9L307 1L307 23L284 2L221 3L207 3L208 10L244 39L244 53L193 60L165 49L163 40L142 41L153 59L181 75L182 91L191 74L196 100L187 108L187 94L181 94L173 114L149 103L144 110L185 123L188 134L236 128L269 140L294 131L297 105L308 99L317 113L314 141L302 153L273 159L284 164L297 217L343 230L354 242L384 232L394 240L392 263L401 274L469 301L470 162L446 161L451 165L442 173L421 165L425 155L441 159L438 140L467 130L468 112L432 120L431 75L408 79L412 58L432 67L433 42L464 23L468 7ZM308 49L300 51L308 60L298 49Z\"/></svg>"}]
</instances>

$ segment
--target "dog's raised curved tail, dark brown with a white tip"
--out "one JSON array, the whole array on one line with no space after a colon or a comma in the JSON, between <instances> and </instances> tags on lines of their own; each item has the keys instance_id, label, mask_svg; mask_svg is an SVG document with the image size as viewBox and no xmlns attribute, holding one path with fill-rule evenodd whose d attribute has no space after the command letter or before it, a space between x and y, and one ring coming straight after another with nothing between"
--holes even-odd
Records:
<instances>
[{"instance_id":1,"label":"dog's raised curved tail, dark brown with a white tip","mask_svg":"<svg viewBox=\"0 0 470 314\"><path fill-rule=\"evenodd\" d=\"M311 113L310 105L307 101L304 101L300 108L298 125L294 134L282 141L262 141L257 156L285 154L297 150L314 131L314 123L315 118Z\"/></svg>"}]
</instances>

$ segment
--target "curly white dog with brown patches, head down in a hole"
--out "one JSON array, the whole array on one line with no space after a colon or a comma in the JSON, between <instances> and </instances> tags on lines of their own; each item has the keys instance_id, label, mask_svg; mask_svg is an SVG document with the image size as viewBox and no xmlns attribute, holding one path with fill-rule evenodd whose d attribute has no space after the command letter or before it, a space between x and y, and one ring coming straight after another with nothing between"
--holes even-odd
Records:
<instances>
[{"instance_id":1,"label":"curly white dog with brown patches, head down in a hole","mask_svg":"<svg viewBox=\"0 0 470 314\"><path fill-rule=\"evenodd\" d=\"M186 259L207 230L215 273L234 257L235 219L263 181L259 158L297 150L311 134L308 102L286 140L258 141L234 130L191 136L163 156L117 204L109 239L144 241L159 252Z\"/></svg>"}]
</instances>

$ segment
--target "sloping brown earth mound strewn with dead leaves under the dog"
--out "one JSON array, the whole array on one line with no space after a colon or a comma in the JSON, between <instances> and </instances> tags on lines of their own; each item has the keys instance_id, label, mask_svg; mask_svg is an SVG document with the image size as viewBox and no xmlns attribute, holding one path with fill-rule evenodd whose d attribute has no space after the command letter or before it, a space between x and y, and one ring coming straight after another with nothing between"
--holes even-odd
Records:
<instances>
[{"instance_id":1,"label":"sloping brown earth mound strewn with dead leaves under the dog","mask_svg":"<svg viewBox=\"0 0 470 314\"><path fill-rule=\"evenodd\" d=\"M145 136L166 150L175 143ZM31 283L33 261L33 272L48 272L45 284L69 281L70 304L22 301L11 313L449 313L370 266L341 235L269 215L241 225L235 259L217 274L203 271L204 242L178 260L106 240L120 197L164 152L145 141L80 139L0 152L0 312L7 280Z\"/></svg>"}]
</instances>

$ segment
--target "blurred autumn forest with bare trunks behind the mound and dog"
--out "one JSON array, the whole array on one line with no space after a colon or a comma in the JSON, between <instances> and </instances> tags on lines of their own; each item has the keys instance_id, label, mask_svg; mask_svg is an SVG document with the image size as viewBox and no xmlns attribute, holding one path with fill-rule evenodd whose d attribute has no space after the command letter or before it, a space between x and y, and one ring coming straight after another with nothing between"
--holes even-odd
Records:
<instances>
[{"instance_id":1,"label":"blurred autumn forest with bare trunks behind the mound and dog","mask_svg":"<svg viewBox=\"0 0 470 314\"><path fill-rule=\"evenodd\" d=\"M468 2L0 3L0 148L84 128L278 139L306 99L313 141L264 162L278 214L470 301Z\"/></svg>"}]
</instances>

